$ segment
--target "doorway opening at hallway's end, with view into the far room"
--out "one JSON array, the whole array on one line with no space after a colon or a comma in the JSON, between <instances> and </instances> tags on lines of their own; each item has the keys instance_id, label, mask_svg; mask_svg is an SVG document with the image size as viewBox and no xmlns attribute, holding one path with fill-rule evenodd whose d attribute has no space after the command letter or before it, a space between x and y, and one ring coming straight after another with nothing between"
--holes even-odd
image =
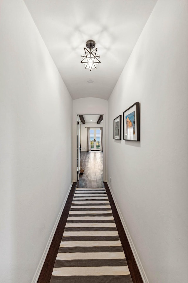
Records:
<instances>
[{"instance_id":1,"label":"doorway opening at hallway's end, with view into the far room","mask_svg":"<svg viewBox=\"0 0 188 283\"><path fill-rule=\"evenodd\" d=\"M99 116L77 115L77 187L104 187L103 120L98 122Z\"/></svg>"}]
</instances>

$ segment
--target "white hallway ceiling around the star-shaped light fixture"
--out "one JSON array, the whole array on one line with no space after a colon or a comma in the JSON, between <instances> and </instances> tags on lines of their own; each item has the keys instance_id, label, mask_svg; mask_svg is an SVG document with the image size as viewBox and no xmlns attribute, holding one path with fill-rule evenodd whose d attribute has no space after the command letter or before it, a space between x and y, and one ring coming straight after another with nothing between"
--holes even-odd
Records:
<instances>
[{"instance_id":1,"label":"white hallway ceiling around the star-shaped light fixture","mask_svg":"<svg viewBox=\"0 0 188 283\"><path fill-rule=\"evenodd\" d=\"M157 0L24 0L73 99L108 100ZM87 40L101 63L80 63ZM88 83L92 79L94 83Z\"/></svg>"}]
</instances>

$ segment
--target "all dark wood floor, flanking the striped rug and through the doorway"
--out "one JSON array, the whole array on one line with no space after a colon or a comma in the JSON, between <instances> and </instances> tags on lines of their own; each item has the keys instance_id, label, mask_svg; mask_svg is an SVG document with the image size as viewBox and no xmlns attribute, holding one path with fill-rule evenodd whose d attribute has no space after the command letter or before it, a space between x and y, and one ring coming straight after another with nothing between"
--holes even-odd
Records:
<instances>
[{"instance_id":1,"label":"all dark wood floor, flanking the striped rug and through the doorway","mask_svg":"<svg viewBox=\"0 0 188 283\"><path fill-rule=\"evenodd\" d=\"M122 247L125 252L125 257L127 260L129 270L130 270L131 277L132 277L132 282L133 283L143 283L140 272L137 267L137 264L135 262L134 256L132 254L132 250L130 248L127 236L122 226L119 214L117 212L114 200L112 198L110 189L108 187L108 184L106 182L103 182L103 172L102 172L103 153L102 152L91 152L91 153L82 152L81 158L80 158L80 166L83 167L84 174L83 176L80 176L80 180L78 182L75 182L72 185L66 205L63 209L63 213L58 223L58 227L56 229L55 235L53 237L50 249L46 256L46 260L44 262L44 265L41 270L41 274L38 278L37 283L49 283L50 282L51 274L53 271L53 266L56 260L56 256L58 254L58 249L61 243L61 238L63 236L66 221L68 218L68 213L70 210L70 206L73 200L73 195L74 195L76 187L87 187L87 188L105 187L107 194L108 194L109 201L110 201L110 205L112 208L115 223L117 226L117 231L120 236L120 241L122 243Z\"/></svg>"}]
</instances>

